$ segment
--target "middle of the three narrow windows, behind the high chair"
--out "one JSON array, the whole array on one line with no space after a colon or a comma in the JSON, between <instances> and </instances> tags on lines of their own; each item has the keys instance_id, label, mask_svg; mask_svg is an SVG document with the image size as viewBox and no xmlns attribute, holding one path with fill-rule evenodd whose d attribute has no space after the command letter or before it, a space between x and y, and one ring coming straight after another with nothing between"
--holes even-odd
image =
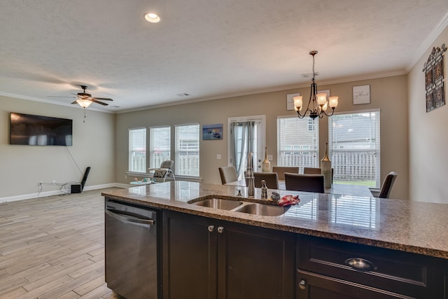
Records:
<instances>
[{"instance_id":1,"label":"middle of the three narrow windows, behind the high chair","mask_svg":"<svg viewBox=\"0 0 448 299\"><path fill-rule=\"evenodd\" d=\"M149 129L149 167L158 168L165 160L171 160L171 127Z\"/></svg>"}]
</instances>

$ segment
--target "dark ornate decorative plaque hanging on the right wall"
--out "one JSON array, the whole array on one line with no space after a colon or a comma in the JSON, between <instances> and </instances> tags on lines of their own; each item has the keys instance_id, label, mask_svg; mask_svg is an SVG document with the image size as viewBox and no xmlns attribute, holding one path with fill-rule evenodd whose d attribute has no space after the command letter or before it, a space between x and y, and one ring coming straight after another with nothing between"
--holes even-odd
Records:
<instances>
[{"instance_id":1,"label":"dark ornate decorative plaque hanging on the right wall","mask_svg":"<svg viewBox=\"0 0 448 299\"><path fill-rule=\"evenodd\" d=\"M423 64L426 86L426 112L432 111L445 104L444 94L444 62L443 53L447 50L442 47L433 48L428 61Z\"/></svg>"}]
</instances>

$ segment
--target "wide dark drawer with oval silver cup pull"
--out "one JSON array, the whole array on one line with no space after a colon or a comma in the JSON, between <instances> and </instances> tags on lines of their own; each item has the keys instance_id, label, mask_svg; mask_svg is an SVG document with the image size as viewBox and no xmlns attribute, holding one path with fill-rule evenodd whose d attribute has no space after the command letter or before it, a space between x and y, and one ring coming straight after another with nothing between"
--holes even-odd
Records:
<instances>
[{"instance_id":1,"label":"wide dark drawer with oval silver cup pull","mask_svg":"<svg viewBox=\"0 0 448 299\"><path fill-rule=\"evenodd\" d=\"M306 235L298 242L300 270L412 298L444 298L445 260Z\"/></svg>"}]
</instances>

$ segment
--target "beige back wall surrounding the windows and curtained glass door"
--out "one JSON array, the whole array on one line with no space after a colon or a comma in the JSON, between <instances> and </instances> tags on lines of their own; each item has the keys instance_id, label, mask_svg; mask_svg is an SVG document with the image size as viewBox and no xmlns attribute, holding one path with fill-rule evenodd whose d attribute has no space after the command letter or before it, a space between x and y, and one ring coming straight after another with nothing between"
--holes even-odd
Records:
<instances>
[{"instance_id":1,"label":"beige back wall surrounding the windows and curtained glass door","mask_svg":"<svg viewBox=\"0 0 448 299\"><path fill-rule=\"evenodd\" d=\"M353 105L353 86L366 84L370 84L370 104ZM408 140L405 109L407 106L407 77L393 76L350 83L319 85L318 89L330 89L331 95L339 96L338 112L381 109L381 181L391 170L398 172L392 196L407 198ZM130 178L125 177L128 160L128 129L158 125L174 126L183 123L200 123L200 125L223 123L223 140L200 141L200 176L206 183L221 183L218 167L227 165L228 118L237 116L266 116L266 143L269 154L274 156L271 165L275 165L276 117L295 115L295 111L286 110L286 95L295 92L300 92L304 99L308 100L309 87L118 114L116 122L117 181L120 183L130 181ZM328 120L323 118L320 121L320 156L322 157L325 142L328 140ZM172 139L174 139L174 128L172 130ZM217 154L222 155L222 160L216 160Z\"/></svg>"}]
</instances>

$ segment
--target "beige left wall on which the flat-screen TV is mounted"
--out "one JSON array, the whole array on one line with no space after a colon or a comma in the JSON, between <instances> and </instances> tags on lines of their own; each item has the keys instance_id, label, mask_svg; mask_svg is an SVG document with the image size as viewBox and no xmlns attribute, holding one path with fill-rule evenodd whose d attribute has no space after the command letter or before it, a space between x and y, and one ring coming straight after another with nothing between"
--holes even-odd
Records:
<instances>
[{"instance_id":1,"label":"beige left wall on which the flat-screen TV is mounted","mask_svg":"<svg viewBox=\"0 0 448 299\"><path fill-rule=\"evenodd\" d=\"M86 188L115 183L115 115L89 110L83 123L82 109L1 96L0 102L0 201L5 197L36 196L38 181L80 181L87 166L92 169ZM10 112L71 118L73 146L10 145ZM58 186L45 184L43 193L58 189Z\"/></svg>"}]
</instances>

